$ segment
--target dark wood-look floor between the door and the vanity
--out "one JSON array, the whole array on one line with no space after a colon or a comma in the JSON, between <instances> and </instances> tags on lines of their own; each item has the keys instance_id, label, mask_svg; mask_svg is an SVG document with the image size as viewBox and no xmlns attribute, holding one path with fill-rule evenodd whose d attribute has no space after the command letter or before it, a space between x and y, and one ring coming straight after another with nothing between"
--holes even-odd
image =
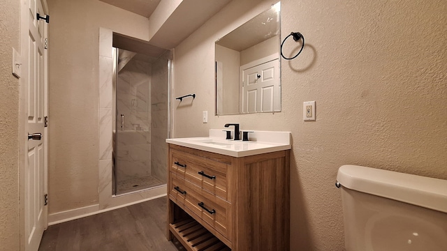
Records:
<instances>
[{"instance_id":1,"label":"dark wood-look floor between the door and the vanity","mask_svg":"<svg viewBox=\"0 0 447 251\"><path fill-rule=\"evenodd\" d=\"M48 227L40 251L184 250L166 239L166 197Z\"/></svg>"}]
</instances>

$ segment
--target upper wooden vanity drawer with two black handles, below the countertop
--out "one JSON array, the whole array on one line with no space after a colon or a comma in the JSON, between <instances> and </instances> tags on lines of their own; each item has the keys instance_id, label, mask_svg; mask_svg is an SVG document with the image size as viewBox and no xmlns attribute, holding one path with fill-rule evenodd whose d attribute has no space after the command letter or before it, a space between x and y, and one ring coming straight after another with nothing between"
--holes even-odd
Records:
<instances>
[{"instance_id":1,"label":"upper wooden vanity drawer with two black handles, below the countertop","mask_svg":"<svg viewBox=\"0 0 447 251\"><path fill-rule=\"evenodd\" d=\"M170 172L186 181L230 201L228 197L228 167L223 162L203 158L191 153L171 150Z\"/></svg>"}]
</instances>

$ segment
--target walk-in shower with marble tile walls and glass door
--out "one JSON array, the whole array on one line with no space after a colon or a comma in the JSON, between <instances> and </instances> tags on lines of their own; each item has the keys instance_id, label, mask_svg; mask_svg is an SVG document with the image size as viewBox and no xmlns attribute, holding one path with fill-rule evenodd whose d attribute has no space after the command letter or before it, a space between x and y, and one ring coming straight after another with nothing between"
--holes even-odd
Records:
<instances>
[{"instance_id":1,"label":"walk-in shower with marble tile walls and glass door","mask_svg":"<svg viewBox=\"0 0 447 251\"><path fill-rule=\"evenodd\" d=\"M113 48L114 195L166 184L171 52L126 49Z\"/></svg>"}]
</instances>

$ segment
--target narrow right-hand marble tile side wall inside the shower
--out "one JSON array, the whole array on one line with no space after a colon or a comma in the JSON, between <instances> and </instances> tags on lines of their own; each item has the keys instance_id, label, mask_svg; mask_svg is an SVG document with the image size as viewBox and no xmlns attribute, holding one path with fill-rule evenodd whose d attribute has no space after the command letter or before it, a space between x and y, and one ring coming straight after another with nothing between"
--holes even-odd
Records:
<instances>
[{"instance_id":1,"label":"narrow right-hand marble tile side wall inside the shower","mask_svg":"<svg viewBox=\"0 0 447 251\"><path fill-rule=\"evenodd\" d=\"M168 137L168 59L166 52L152 63L151 167L152 176L166 182L166 137Z\"/></svg>"}]
</instances>

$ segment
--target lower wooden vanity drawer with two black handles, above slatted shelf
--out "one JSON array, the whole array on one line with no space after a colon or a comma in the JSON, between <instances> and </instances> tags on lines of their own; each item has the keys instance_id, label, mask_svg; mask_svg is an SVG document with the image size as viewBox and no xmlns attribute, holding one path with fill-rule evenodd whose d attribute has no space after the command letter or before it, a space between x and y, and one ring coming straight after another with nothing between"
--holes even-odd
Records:
<instances>
[{"instance_id":1,"label":"lower wooden vanity drawer with two black handles, above slatted shelf","mask_svg":"<svg viewBox=\"0 0 447 251\"><path fill-rule=\"evenodd\" d=\"M175 203L188 208L220 234L230 238L231 204L227 201L173 173L170 174L169 196Z\"/></svg>"}]
</instances>

